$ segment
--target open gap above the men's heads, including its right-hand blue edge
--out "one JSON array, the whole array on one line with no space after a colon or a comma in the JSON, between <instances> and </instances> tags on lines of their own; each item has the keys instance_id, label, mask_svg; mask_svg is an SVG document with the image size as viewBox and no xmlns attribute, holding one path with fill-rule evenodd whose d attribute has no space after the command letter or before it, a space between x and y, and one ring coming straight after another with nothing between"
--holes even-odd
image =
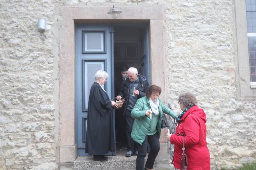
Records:
<instances>
[{"instance_id":1,"label":"open gap above the men's heads, including its right-hand blue edge","mask_svg":"<svg viewBox=\"0 0 256 170\"><path fill-rule=\"evenodd\" d=\"M138 69L148 80L148 30L147 25L114 26L114 74L120 77L122 66Z\"/></svg>"}]
</instances>

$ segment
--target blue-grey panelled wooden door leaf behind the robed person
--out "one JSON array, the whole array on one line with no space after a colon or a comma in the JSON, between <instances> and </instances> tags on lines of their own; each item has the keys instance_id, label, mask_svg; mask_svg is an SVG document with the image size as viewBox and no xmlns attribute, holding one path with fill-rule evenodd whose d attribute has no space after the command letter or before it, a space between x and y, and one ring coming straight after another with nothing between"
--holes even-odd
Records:
<instances>
[{"instance_id":1,"label":"blue-grey panelled wooden door leaf behind the robed person","mask_svg":"<svg viewBox=\"0 0 256 170\"><path fill-rule=\"evenodd\" d=\"M84 153L87 109L94 74L105 70L109 77L104 89L112 98L113 90L113 33L110 25L76 25L76 144L77 155ZM114 68L114 67L113 67ZM109 155L114 153L109 152Z\"/></svg>"}]
</instances>

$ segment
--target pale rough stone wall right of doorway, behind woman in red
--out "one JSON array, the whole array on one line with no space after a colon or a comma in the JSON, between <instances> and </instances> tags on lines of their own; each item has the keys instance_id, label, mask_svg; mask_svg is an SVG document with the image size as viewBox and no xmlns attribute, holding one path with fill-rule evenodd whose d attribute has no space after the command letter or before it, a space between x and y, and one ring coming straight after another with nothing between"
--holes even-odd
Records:
<instances>
[{"instance_id":1,"label":"pale rough stone wall right of doorway, behind woman in red","mask_svg":"<svg viewBox=\"0 0 256 170\"><path fill-rule=\"evenodd\" d=\"M241 98L236 89L234 12L231 0L179 1L166 9L169 97L177 108L180 93L196 94L208 118L211 164L218 168L256 158L256 98Z\"/></svg>"}]
</instances>

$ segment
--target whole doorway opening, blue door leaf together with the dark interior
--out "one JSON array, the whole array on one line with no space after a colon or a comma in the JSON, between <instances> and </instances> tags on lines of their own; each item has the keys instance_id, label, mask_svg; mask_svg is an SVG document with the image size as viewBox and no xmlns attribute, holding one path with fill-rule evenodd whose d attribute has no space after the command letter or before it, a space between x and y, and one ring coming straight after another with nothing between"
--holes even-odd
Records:
<instances>
[{"instance_id":1,"label":"whole doorway opening, blue door leaf together with the dark interior","mask_svg":"<svg viewBox=\"0 0 256 170\"><path fill-rule=\"evenodd\" d=\"M113 34L114 39L112 39ZM110 53L112 47L114 47L114 53ZM108 96L117 96L113 91L114 80L121 77L120 70L124 64L128 67L136 67L138 73L145 76L149 82L148 53L148 25L146 24L76 24L76 143L78 156L88 156L84 152L88 99L95 72L97 70L108 72L110 80L106 82L104 88ZM113 73L114 76L112 76ZM121 109L115 110L116 115L122 116ZM120 119L117 118L116 122L120 123ZM120 124L124 125L122 121ZM114 125L118 126L116 123ZM124 134L124 128L118 129L121 129L120 133ZM119 140L118 136L116 139ZM115 155L115 152L109 152L107 155Z\"/></svg>"}]
</instances>

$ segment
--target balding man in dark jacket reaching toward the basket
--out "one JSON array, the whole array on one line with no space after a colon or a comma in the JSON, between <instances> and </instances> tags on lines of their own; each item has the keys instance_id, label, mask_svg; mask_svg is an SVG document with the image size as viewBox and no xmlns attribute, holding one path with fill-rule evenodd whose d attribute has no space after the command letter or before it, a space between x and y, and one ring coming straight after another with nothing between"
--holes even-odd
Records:
<instances>
[{"instance_id":1,"label":"balding man in dark jacket reaching toward the basket","mask_svg":"<svg viewBox=\"0 0 256 170\"><path fill-rule=\"evenodd\" d=\"M125 133L127 139L127 152L126 157L135 154L134 141L131 138L132 125L134 119L131 117L131 111L136 104L137 99L146 96L148 89L148 82L146 78L138 74L138 70L134 67L128 69L128 78L122 82L121 92L117 96L117 100L125 99L124 102L124 116L126 120Z\"/></svg>"}]
</instances>

